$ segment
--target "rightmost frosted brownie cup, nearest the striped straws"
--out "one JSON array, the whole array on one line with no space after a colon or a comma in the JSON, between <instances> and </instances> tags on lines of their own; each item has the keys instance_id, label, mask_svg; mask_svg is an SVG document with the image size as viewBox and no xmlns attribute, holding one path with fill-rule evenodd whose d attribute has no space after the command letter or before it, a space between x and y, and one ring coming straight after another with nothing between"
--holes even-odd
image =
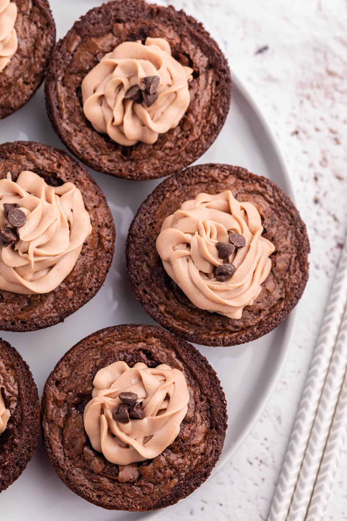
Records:
<instances>
[{"instance_id":1,"label":"rightmost frosted brownie cup, nearest the striped straws","mask_svg":"<svg viewBox=\"0 0 347 521\"><path fill-rule=\"evenodd\" d=\"M250 342L277 327L304 291L309 251L298 210L275 183L218 164L163 181L126 243L147 313L204 345Z\"/></svg>"}]
</instances>

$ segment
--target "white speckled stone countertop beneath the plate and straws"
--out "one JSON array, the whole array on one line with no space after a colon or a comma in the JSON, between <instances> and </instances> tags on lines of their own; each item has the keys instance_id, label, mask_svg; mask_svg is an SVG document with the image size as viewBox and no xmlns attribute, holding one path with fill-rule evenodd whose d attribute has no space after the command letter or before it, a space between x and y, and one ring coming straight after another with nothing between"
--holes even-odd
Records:
<instances>
[{"instance_id":1,"label":"white speckled stone countertop beneath the plate and straws","mask_svg":"<svg viewBox=\"0 0 347 521\"><path fill-rule=\"evenodd\" d=\"M232 460L181 519L267 519L347 225L345 0L170 0L219 42L277 135L311 241L310 280L276 390ZM347 448L326 519L347 519Z\"/></svg>"}]
</instances>

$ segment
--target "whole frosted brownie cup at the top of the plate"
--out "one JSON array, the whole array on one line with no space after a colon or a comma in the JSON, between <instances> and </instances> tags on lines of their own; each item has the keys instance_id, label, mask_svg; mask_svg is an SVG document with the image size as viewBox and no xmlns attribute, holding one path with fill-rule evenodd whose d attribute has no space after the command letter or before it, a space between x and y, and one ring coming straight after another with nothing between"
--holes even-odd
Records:
<instances>
[{"instance_id":1,"label":"whole frosted brownie cup at the top of the plate","mask_svg":"<svg viewBox=\"0 0 347 521\"><path fill-rule=\"evenodd\" d=\"M126 125L118 122L117 125L121 125L119 131L115 128L114 101L111 103L110 98L106 101L106 96L102 96L102 100L99 97L100 90L105 89L106 81L104 81L105 69L102 68L104 63L102 60L106 60L107 67L112 60L113 71L118 57L132 58L131 49L135 47L136 56L148 57L148 53L146 55L144 53L146 53L146 46L151 44L162 47L161 49L157 47L157 51L149 47L148 52L151 56L153 57L153 53L159 53L158 56L151 58L153 63L148 67L148 63L144 65L142 60L144 69L139 66L139 72L131 72L133 76L130 78L130 83L124 79L124 72L121 72L119 77L113 72L112 81L118 83L113 84L112 89L110 86L109 92L114 92L119 83L124 83L124 88L117 91L117 96L121 98L119 102L117 97L117 118L120 117L121 122L123 121L122 114L119 116L119 111L124 112L123 106L127 115L129 115L128 110L133 111L133 119L136 114L135 121L133 119L129 121L128 117ZM168 53L163 53L163 49ZM170 54L169 58L168 54ZM181 88L184 84L188 94L188 104L183 100L184 89L181 89L179 108L174 106L176 103L174 101L167 109L170 112L168 117L172 118L170 120L172 126L169 130L167 130L168 121L162 121L167 115L166 108L163 116L161 110L161 104L164 103L163 96L167 94L164 78L165 75L168 76L168 72L164 66L161 66L162 60L166 59L165 56L170 60L170 69L174 70L175 74L177 72L178 76L184 75L182 72L184 70L187 75L187 79L185 76L176 78L174 74L172 75L173 84L170 86L170 92L174 85ZM145 74L148 75L145 78L152 80L158 74L160 85L151 82L146 85L146 92L142 81ZM95 116L95 121L91 118L93 124L84 113L86 100L83 97L82 83L87 75L92 75L85 91L88 91L87 96L90 95L89 101L93 102L94 96L94 105L89 107ZM170 78L168 82L170 85ZM140 100L137 99L136 93L132 95L132 91L125 92L130 85L137 90L137 94L140 94ZM141 103L142 96L146 96L147 100L149 98L150 104L154 103L157 86L158 101L148 108L150 105L147 101ZM81 20L75 22L52 53L45 83L49 119L70 151L95 170L139 180L164 177L178 172L207 151L224 125L229 110L231 90L232 80L227 61L202 25L182 10L176 11L172 6L160 7L147 4L143 0L107 2L92 9ZM150 96L154 97L150 98ZM178 96L174 100L177 98ZM112 106L109 106L109 103ZM107 105L105 111L104 104ZM153 113L151 113L152 109ZM102 114L99 114L99 110ZM108 118L108 125L104 120L100 122L100 118L104 117ZM136 125L139 120L144 126ZM145 129L148 125L151 129L155 129L154 137L152 130ZM129 139L124 139L124 132ZM116 142L114 139L118 138L111 139L109 134L113 137L114 134L120 135L121 139ZM146 134L145 138L139 137L143 134ZM141 139L146 142L140 141Z\"/></svg>"}]
</instances>

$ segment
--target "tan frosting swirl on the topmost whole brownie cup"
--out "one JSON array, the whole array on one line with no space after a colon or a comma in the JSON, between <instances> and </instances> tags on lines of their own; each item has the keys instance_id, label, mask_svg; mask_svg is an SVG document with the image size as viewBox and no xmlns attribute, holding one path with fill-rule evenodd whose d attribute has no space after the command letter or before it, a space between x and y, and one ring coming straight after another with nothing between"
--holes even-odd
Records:
<instances>
[{"instance_id":1,"label":"tan frosting swirl on the topmost whole brownie cup","mask_svg":"<svg viewBox=\"0 0 347 521\"><path fill-rule=\"evenodd\" d=\"M162 38L147 38L145 45L140 40L121 43L84 78L84 114L98 132L121 145L155 143L159 134L177 127L187 110L191 73L171 56ZM134 85L145 89L146 76L160 77L158 99L149 108L124 99Z\"/></svg>"}]
</instances>

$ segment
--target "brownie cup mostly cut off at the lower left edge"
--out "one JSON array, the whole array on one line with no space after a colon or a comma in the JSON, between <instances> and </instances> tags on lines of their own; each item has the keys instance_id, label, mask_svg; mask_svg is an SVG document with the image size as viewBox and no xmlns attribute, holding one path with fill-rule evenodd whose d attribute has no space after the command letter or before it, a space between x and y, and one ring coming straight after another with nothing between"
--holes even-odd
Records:
<instances>
[{"instance_id":1,"label":"brownie cup mostly cut off at the lower left edge","mask_svg":"<svg viewBox=\"0 0 347 521\"><path fill-rule=\"evenodd\" d=\"M40 431L40 402L28 365L0 339L0 492L19 478Z\"/></svg>"}]
</instances>

